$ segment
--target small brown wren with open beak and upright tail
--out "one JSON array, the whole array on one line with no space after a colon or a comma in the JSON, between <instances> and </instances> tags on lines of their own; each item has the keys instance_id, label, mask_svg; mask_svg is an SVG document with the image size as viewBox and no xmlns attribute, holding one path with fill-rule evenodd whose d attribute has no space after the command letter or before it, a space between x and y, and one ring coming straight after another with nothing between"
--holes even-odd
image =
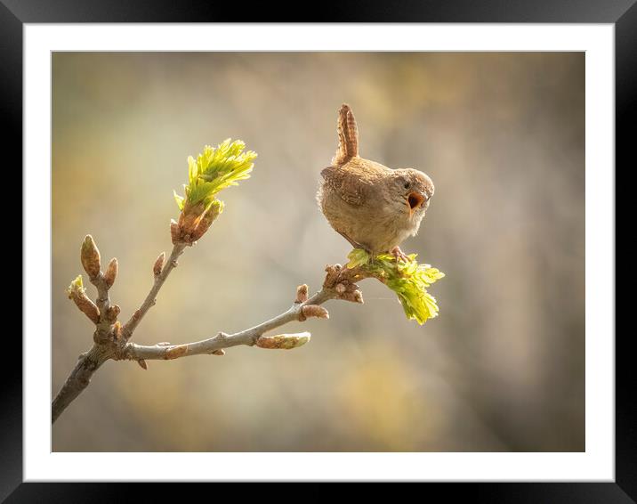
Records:
<instances>
[{"instance_id":1,"label":"small brown wren with open beak and upright tail","mask_svg":"<svg viewBox=\"0 0 637 504\"><path fill-rule=\"evenodd\" d=\"M356 248L405 258L400 243L418 232L433 196L429 176L359 157L359 129L349 105L338 110L338 150L321 171L317 200L329 224Z\"/></svg>"}]
</instances>

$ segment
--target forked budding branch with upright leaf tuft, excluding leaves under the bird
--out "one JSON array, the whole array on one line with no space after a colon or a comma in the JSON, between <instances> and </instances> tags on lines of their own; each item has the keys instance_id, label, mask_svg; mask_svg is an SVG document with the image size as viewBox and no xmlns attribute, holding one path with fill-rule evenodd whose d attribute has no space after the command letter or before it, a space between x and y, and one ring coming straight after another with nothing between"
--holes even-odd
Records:
<instances>
[{"instance_id":1,"label":"forked budding branch with upright leaf tuft, excluding leaves under the bird","mask_svg":"<svg viewBox=\"0 0 637 504\"><path fill-rule=\"evenodd\" d=\"M253 328L230 335L220 332L215 337L185 345L160 343L145 346L129 342L150 307L155 305L159 290L177 265L177 259L184 249L201 239L222 213L223 202L217 199L217 193L249 177L256 153L252 150L244 151L245 147L244 142L230 142L228 139L216 149L206 145L197 159L189 158L189 184L184 186L185 196L181 197L175 193L181 213L179 219L171 220L170 224L173 251L167 262L163 252L157 257L152 268L154 281L149 294L124 325L117 320L119 306L111 305L109 298L109 289L117 278L117 259L111 259L106 273L101 272L100 250L91 235L85 236L80 248L80 260L89 280L97 289L97 300L93 303L86 296L82 275L71 282L67 293L80 311L95 324L93 347L79 356L75 369L71 371L69 378L55 396L52 402L52 422L55 422L69 404L85 390L95 371L109 360L133 360L146 369L146 359L168 360L197 354L222 355L223 348L235 345L295 348L307 342L310 334L265 336L264 333L290 321L305 321L308 317L328 318L327 310L320 306L328 299L363 302L354 281L365 278L365 273L358 272L356 268L347 269L335 264L327 266L323 289L317 294L308 299L307 286L300 286L296 290L294 305L270 321L262 322Z\"/></svg>"}]
</instances>

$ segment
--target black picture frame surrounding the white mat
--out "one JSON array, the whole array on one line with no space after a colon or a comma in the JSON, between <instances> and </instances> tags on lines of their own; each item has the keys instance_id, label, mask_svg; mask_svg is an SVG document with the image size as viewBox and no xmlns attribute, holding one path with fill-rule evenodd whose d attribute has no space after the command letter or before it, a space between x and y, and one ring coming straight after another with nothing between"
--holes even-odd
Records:
<instances>
[{"instance_id":1,"label":"black picture frame surrounding the white mat","mask_svg":"<svg viewBox=\"0 0 637 504\"><path fill-rule=\"evenodd\" d=\"M213 0L0 0L0 110L5 125L4 170L17 179L22 166L22 28L24 23L97 22L506 22L612 23L615 25L616 167L634 165L631 127L637 124L636 0L341 0L302 10L299 3L242 3L228 8ZM312 12L310 12L312 11ZM617 168L616 168L617 173ZM11 174L11 175L10 175ZM5 187L18 183L5 180ZM22 185L20 178L20 187ZM617 191L616 191L617 198ZM15 210L11 209L14 213ZM15 217L10 217L12 222ZM43 223L48 225L48 223ZM13 232L13 239L15 232ZM22 271L28 264L22 264ZM614 272L613 272L614 274ZM6 502L113 502L144 500L154 493L183 498L173 485L22 483L22 346L5 331L0 367L0 500ZM607 336L607 335L601 335ZM424 496L443 492L446 500L470 496L488 502L635 502L637 501L637 393L634 383L633 334L617 332L616 341L616 476L614 483L468 483L428 484ZM13 366L13 367L12 367ZM131 488L133 486L134 488ZM278 489L266 487L274 492ZM158 492L157 492L158 491ZM264 492L260 485L259 492ZM392 492L393 493L393 492ZM316 495L316 494L314 494ZM376 494L376 497L379 495ZM393 496L393 495L392 495ZM210 496L211 498L214 496Z\"/></svg>"}]
</instances>

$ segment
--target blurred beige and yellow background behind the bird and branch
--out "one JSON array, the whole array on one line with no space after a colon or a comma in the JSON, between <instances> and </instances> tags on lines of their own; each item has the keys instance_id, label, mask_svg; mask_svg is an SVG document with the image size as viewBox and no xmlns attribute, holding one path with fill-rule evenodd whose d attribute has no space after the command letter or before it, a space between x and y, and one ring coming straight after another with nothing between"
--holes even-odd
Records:
<instances>
[{"instance_id":1,"label":"blurred beige and yellow background behind the bird and branch","mask_svg":"<svg viewBox=\"0 0 637 504\"><path fill-rule=\"evenodd\" d=\"M364 280L364 305L282 328L310 330L300 349L107 362L53 451L585 450L584 53L53 53L52 394L92 345L64 292L85 234L119 260L125 321L206 143L243 139L253 176L133 340L246 329L319 289L351 250L314 199L342 102L364 158L435 183L403 250L447 273L439 317Z\"/></svg>"}]
</instances>

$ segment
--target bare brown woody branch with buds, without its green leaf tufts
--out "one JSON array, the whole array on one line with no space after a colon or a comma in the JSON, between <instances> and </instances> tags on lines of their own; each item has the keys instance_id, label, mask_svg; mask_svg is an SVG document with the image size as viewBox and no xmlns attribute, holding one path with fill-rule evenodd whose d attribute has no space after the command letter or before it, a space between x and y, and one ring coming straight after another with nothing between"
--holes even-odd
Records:
<instances>
[{"instance_id":1,"label":"bare brown woody branch with buds, without its green leaf tufts","mask_svg":"<svg viewBox=\"0 0 637 504\"><path fill-rule=\"evenodd\" d=\"M89 240L90 239L90 240ZM322 289L308 298L307 285L299 286L296 290L294 304L285 312L280 313L269 321L264 321L250 329L234 334L217 333L201 341L181 345L157 343L157 345L137 345L130 342L133 332L141 320L155 305L157 294L164 285L170 272L177 265L177 259L184 249L192 243L177 241L168 260L162 253L153 264L154 282L148 296L140 308L122 326L117 321L119 306L110 305L109 289L117 276L117 260L111 260L105 273L100 271L100 256L93 238L87 236L82 248L82 261L89 278L98 291L95 305L99 310L99 319L95 317L96 329L93 334L93 347L81 354L77 365L60 392L52 402L52 422L81 394L104 362L136 361L143 369L147 368L147 360L173 360L190 355L212 354L223 355L225 348L237 345L256 345L262 348L289 349L304 344L310 333L266 336L265 333L277 329L291 321L305 321L310 317L328 318L327 310L322 305L330 299L343 299L354 303L362 303L363 298L356 281L366 278L358 268L347 269L340 264L328 265L327 276ZM81 284L81 282L80 282ZM81 287L81 286L80 286Z\"/></svg>"}]
</instances>

